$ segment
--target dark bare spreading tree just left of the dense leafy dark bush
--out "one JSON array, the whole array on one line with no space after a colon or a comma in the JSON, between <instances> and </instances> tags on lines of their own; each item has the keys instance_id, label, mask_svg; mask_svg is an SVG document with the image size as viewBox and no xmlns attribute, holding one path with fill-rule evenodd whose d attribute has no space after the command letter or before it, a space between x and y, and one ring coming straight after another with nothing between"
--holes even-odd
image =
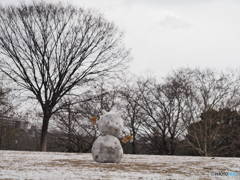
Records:
<instances>
[{"instance_id":1,"label":"dark bare spreading tree just left of the dense leafy dark bush","mask_svg":"<svg viewBox=\"0 0 240 180\"><path fill-rule=\"evenodd\" d=\"M163 83L152 79L141 85L140 106L149 117L144 122L146 132L160 154L174 154L178 139L186 129L185 96L188 83L181 76L169 75Z\"/></svg>"}]
</instances>

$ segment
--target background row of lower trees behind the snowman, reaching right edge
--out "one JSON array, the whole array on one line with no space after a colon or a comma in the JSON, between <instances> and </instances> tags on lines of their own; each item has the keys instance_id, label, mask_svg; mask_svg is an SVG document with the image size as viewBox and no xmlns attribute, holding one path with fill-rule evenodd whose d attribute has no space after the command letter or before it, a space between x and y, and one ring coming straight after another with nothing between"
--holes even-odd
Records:
<instances>
[{"instance_id":1,"label":"background row of lower trees behind the snowman, reaching right edge","mask_svg":"<svg viewBox=\"0 0 240 180\"><path fill-rule=\"evenodd\" d=\"M60 134L52 133L52 140L62 150L88 152L98 135L89 118L114 107L133 136L126 152L239 156L239 80L233 71L187 68L162 82L135 77L95 83L80 99L63 103L54 115Z\"/></svg>"}]
</instances>

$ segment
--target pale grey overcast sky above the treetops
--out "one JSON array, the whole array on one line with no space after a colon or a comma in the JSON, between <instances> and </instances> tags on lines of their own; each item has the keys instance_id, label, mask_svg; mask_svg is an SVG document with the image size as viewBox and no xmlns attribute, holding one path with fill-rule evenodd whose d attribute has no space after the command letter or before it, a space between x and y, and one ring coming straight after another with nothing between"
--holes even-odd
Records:
<instances>
[{"instance_id":1,"label":"pale grey overcast sky above the treetops","mask_svg":"<svg viewBox=\"0 0 240 180\"><path fill-rule=\"evenodd\" d=\"M180 67L240 67L240 0L60 1L98 9L113 21L132 49L133 73L164 76Z\"/></svg>"}]
</instances>

